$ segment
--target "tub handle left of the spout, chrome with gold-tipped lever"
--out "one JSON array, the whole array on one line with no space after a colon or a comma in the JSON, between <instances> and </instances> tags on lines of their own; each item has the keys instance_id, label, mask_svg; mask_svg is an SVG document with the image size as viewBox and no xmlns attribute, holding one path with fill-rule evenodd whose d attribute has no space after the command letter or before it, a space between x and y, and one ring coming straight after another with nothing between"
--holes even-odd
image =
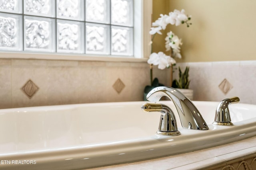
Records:
<instances>
[{"instance_id":1,"label":"tub handle left of the spout, chrome with gold-tipped lever","mask_svg":"<svg viewBox=\"0 0 256 170\"><path fill-rule=\"evenodd\" d=\"M141 106L141 109L146 112L157 111L162 113L160 117L158 131L156 132L156 134L170 135L170 136L180 135L180 131L178 131L175 115L172 109L170 109L170 107L164 104L145 103Z\"/></svg>"}]
</instances>

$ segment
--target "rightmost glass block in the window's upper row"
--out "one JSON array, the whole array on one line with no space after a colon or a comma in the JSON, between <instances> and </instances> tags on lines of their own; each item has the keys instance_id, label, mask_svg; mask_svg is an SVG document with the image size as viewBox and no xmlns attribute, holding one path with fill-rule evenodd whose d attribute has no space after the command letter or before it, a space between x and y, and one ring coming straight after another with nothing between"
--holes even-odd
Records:
<instances>
[{"instance_id":1,"label":"rightmost glass block in the window's upper row","mask_svg":"<svg viewBox=\"0 0 256 170\"><path fill-rule=\"evenodd\" d=\"M133 26L132 0L111 0L111 24Z\"/></svg>"}]
</instances>

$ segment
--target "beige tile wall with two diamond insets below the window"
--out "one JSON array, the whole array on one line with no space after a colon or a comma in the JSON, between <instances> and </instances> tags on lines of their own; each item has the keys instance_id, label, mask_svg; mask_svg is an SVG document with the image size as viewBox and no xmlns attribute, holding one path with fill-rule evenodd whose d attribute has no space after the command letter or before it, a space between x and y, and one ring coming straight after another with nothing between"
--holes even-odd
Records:
<instances>
[{"instance_id":1,"label":"beige tile wall with two diamond insets below the window","mask_svg":"<svg viewBox=\"0 0 256 170\"><path fill-rule=\"evenodd\" d=\"M154 70L163 84L166 74ZM150 68L147 63L0 59L0 78L1 109L124 102L143 100Z\"/></svg>"}]
</instances>

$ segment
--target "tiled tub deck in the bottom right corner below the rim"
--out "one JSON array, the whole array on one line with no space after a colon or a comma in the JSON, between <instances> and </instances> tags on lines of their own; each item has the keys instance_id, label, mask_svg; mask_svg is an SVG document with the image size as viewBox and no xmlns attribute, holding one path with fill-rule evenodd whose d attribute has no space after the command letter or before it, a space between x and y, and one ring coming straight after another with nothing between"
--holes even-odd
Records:
<instances>
[{"instance_id":1,"label":"tiled tub deck in the bottom right corner below the rim","mask_svg":"<svg viewBox=\"0 0 256 170\"><path fill-rule=\"evenodd\" d=\"M163 158L90 168L90 170L256 169L256 137Z\"/></svg>"}]
</instances>

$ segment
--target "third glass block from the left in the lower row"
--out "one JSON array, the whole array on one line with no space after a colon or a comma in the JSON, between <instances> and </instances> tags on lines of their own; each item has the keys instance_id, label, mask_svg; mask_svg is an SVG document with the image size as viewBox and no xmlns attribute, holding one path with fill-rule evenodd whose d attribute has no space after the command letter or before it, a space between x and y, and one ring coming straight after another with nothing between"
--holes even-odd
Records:
<instances>
[{"instance_id":1,"label":"third glass block from the left in the lower row","mask_svg":"<svg viewBox=\"0 0 256 170\"><path fill-rule=\"evenodd\" d=\"M84 22L57 20L57 52L84 53Z\"/></svg>"}]
</instances>

